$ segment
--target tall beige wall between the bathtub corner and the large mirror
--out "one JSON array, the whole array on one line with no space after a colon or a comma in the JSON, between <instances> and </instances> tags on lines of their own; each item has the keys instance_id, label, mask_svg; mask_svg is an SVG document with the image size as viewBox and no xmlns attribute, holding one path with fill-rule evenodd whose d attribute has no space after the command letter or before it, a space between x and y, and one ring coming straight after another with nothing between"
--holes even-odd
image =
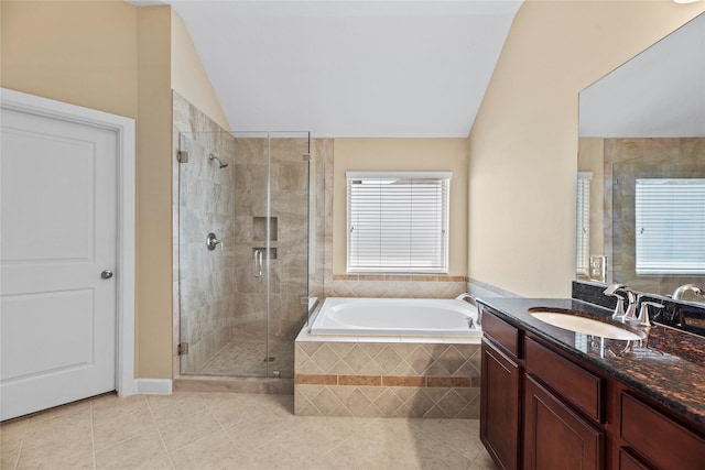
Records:
<instances>
[{"instance_id":1,"label":"tall beige wall between the bathtub corner and the large mirror","mask_svg":"<svg viewBox=\"0 0 705 470\"><path fill-rule=\"evenodd\" d=\"M570 295L577 94L703 10L523 3L468 139L471 278L525 296Z\"/></svg>"}]
</instances>

